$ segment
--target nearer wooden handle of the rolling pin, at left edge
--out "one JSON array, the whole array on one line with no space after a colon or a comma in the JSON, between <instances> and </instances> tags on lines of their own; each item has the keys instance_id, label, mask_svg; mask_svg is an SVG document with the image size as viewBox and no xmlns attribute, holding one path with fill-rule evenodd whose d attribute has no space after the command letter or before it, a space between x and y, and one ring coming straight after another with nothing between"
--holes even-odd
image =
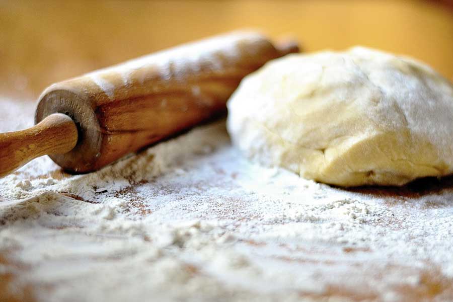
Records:
<instances>
[{"instance_id":1,"label":"nearer wooden handle of the rolling pin, at left edge","mask_svg":"<svg viewBox=\"0 0 453 302\"><path fill-rule=\"evenodd\" d=\"M0 133L0 177L37 157L69 152L78 137L74 121L62 113L53 113L25 130Z\"/></svg>"}]
</instances>

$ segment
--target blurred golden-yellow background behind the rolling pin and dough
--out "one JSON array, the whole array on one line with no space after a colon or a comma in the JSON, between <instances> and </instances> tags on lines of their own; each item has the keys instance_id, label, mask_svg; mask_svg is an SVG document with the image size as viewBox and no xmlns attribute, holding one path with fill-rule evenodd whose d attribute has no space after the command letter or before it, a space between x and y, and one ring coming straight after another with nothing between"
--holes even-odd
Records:
<instances>
[{"instance_id":1,"label":"blurred golden-yellow background behind the rolling pin and dough","mask_svg":"<svg viewBox=\"0 0 453 302\"><path fill-rule=\"evenodd\" d=\"M0 94L35 100L53 82L240 28L292 35L306 51L408 54L453 79L449 0L0 0Z\"/></svg>"}]
</instances>

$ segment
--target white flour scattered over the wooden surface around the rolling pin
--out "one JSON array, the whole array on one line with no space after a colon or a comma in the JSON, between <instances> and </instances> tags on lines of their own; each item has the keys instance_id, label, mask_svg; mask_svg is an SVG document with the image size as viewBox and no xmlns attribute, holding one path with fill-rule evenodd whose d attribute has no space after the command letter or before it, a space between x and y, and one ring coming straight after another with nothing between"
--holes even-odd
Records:
<instances>
[{"instance_id":1,"label":"white flour scattered over the wooden surface around the rolling pin","mask_svg":"<svg viewBox=\"0 0 453 302\"><path fill-rule=\"evenodd\" d=\"M0 106L0 131L30 126ZM447 183L318 184L250 164L224 120L91 174L43 157L0 179L0 277L45 301L453 299Z\"/></svg>"}]
</instances>

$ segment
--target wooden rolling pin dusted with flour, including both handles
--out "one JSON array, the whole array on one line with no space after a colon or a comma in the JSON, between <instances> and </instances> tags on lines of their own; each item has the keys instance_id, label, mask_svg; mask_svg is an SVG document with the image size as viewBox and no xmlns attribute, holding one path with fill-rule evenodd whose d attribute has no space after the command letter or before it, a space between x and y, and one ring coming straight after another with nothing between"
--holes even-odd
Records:
<instances>
[{"instance_id":1,"label":"wooden rolling pin dusted with flour, including both handles","mask_svg":"<svg viewBox=\"0 0 453 302\"><path fill-rule=\"evenodd\" d=\"M100 169L224 112L245 75L297 51L234 32L53 84L34 127L0 134L0 177L43 155L72 173Z\"/></svg>"}]
</instances>

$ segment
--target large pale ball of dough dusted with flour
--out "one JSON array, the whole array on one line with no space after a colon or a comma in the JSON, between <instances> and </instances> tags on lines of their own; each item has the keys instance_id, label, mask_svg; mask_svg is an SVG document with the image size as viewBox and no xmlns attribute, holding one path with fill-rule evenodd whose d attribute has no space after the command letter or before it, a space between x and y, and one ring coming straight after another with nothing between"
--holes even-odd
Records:
<instances>
[{"instance_id":1,"label":"large pale ball of dough dusted with flour","mask_svg":"<svg viewBox=\"0 0 453 302\"><path fill-rule=\"evenodd\" d=\"M228 130L248 157L339 186L453 171L453 85L406 57L355 47L293 54L243 80Z\"/></svg>"}]
</instances>

